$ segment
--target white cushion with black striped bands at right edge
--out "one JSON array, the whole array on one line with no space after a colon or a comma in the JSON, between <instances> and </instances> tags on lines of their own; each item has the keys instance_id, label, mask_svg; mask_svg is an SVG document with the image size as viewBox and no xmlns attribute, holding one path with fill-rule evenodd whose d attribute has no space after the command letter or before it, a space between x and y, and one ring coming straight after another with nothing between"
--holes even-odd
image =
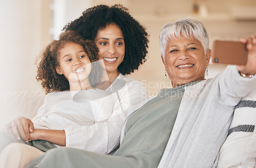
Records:
<instances>
[{"instance_id":1,"label":"white cushion with black striped bands at right edge","mask_svg":"<svg viewBox=\"0 0 256 168\"><path fill-rule=\"evenodd\" d=\"M234 110L228 136L220 150L218 167L255 167L256 89Z\"/></svg>"}]
</instances>

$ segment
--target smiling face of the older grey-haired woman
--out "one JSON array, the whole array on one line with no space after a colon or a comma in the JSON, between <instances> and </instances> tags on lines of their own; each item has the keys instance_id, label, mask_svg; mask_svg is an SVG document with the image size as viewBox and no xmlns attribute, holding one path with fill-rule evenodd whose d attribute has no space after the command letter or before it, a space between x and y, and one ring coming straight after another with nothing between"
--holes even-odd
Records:
<instances>
[{"instance_id":1,"label":"smiling face of the older grey-haired woman","mask_svg":"<svg viewBox=\"0 0 256 168\"><path fill-rule=\"evenodd\" d=\"M204 80L209 64L210 50L206 52L202 43L195 38L169 38L163 63L173 87L189 82Z\"/></svg>"}]
</instances>

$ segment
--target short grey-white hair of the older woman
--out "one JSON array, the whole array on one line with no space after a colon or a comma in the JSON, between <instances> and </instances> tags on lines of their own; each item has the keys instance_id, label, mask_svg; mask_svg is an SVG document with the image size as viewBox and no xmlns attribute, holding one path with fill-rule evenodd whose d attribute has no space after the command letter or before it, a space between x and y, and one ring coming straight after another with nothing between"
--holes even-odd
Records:
<instances>
[{"instance_id":1,"label":"short grey-white hair of the older woman","mask_svg":"<svg viewBox=\"0 0 256 168\"><path fill-rule=\"evenodd\" d=\"M199 40L204 47L204 54L209 50L209 38L203 23L197 19L185 17L176 22L167 22L163 26L159 35L160 50L163 58L168 39L181 38L181 35Z\"/></svg>"}]
</instances>

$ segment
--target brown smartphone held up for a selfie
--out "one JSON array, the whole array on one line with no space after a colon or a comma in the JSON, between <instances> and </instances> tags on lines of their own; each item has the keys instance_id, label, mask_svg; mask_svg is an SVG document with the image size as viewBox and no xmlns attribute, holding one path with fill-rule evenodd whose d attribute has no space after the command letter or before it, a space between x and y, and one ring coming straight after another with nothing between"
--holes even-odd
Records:
<instances>
[{"instance_id":1,"label":"brown smartphone held up for a selfie","mask_svg":"<svg viewBox=\"0 0 256 168\"><path fill-rule=\"evenodd\" d=\"M245 65L247 53L246 44L240 41L215 40L212 45L211 61L221 64Z\"/></svg>"}]
</instances>

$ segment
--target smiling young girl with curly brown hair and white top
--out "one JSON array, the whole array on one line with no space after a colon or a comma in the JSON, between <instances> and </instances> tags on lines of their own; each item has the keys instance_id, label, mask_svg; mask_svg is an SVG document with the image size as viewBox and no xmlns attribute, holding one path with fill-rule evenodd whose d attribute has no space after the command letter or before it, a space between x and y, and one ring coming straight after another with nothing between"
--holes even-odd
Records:
<instances>
[{"instance_id":1,"label":"smiling young girl with curly brown hair and white top","mask_svg":"<svg viewBox=\"0 0 256 168\"><path fill-rule=\"evenodd\" d=\"M109 92L92 87L106 76L102 63L97 60L98 49L94 42L83 40L73 31L63 32L59 40L52 41L38 64L36 79L41 81L47 95L44 105L32 120L35 129L30 130L31 139L16 140L12 132L1 133L0 150L13 142L26 143L44 152L66 146L65 132L83 126L88 127L87 132L82 132L88 142L81 144L71 140L67 143L73 143L76 148L105 153L97 139L91 137L94 132L91 126L103 123L111 116L113 99ZM5 152L0 155L0 166L8 157L4 155Z\"/></svg>"}]
</instances>

